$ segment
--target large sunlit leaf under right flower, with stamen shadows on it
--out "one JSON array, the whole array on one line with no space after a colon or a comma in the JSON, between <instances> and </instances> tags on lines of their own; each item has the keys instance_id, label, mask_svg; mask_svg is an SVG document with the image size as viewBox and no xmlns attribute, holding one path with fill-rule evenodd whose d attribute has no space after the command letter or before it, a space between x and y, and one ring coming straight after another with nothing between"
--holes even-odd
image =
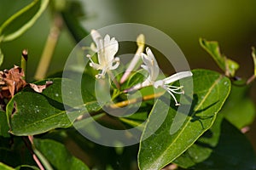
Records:
<instances>
[{"instance_id":1,"label":"large sunlit leaf under right flower, with stamen shadows on it","mask_svg":"<svg viewBox=\"0 0 256 170\"><path fill-rule=\"evenodd\" d=\"M173 122L174 117L177 114L185 113L182 110L177 111L175 106L172 108L166 105L168 103L166 102L167 95L157 100L148 117L140 143L138 154L140 169L160 169L174 161L207 129L212 127L218 111L224 105L224 101L230 93L230 80L214 71L195 70L192 72L194 98L189 116L186 116L185 122L176 133L170 134L172 124L177 124L177 122ZM184 80L184 88L190 85L190 83L186 85L186 82L189 81ZM186 105L181 106L186 107ZM165 109L168 109L166 119L154 134L149 136L155 123L160 121L160 115Z\"/></svg>"}]
</instances>

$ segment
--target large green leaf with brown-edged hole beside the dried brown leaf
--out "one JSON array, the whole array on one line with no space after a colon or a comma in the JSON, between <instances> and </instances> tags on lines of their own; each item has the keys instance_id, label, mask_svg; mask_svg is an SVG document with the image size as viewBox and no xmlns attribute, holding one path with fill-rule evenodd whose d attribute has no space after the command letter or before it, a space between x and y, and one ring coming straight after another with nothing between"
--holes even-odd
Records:
<instances>
[{"instance_id":1,"label":"large green leaf with brown-edged hole beside the dried brown leaf","mask_svg":"<svg viewBox=\"0 0 256 170\"><path fill-rule=\"evenodd\" d=\"M90 100L93 99L90 92L86 89L80 90L77 82L61 78L49 80L53 84L45 88L42 94L35 93L31 88L25 88L9 101L7 115L10 133L19 136L34 135L58 127L70 127L79 115L99 110L100 106L97 102ZM38 82L38 84L44 83L45 81ZM65 83L66 89L70 91L62 93L61 83ZM82 104L77 98L80 93L84 97ZM68 100L65 105L62 101L63 97Z\"/></svg>"}]
</instances>

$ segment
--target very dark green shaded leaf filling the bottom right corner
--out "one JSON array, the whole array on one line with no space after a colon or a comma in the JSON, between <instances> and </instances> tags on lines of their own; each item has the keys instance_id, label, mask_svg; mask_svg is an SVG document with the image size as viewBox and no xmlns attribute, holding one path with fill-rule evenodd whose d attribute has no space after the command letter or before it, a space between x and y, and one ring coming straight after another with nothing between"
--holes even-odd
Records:
<instances>
[{"instance_id":1,"label":"very dark green shaded leaf filling the bottom right corner","mask_svg":"<svg viewBox=\"0 0 256 170\"><path fill-rule=\"evenodd\" d=\"M212 155L206 161L197 164L195 169L255 169L256 156L253 146L236 127L224 120L221 134Z\"/></svg>"}]
</instances>

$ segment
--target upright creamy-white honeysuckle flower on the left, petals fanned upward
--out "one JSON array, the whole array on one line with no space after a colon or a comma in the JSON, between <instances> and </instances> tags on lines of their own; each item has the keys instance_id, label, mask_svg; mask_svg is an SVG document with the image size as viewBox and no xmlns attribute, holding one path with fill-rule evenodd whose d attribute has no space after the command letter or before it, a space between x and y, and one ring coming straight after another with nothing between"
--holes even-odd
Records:
<instances>
[{"instance_id":1,"label":"upright creamy-white honeysuckle flower on the left, petals fanned upward","mask_svg":"<svg viewBox=\"0 0 256 170\"><path fill-rule=\"evenodd\" d=\"M119 57L114 58L114 55L119 50L119 43L114 37L110 38L108 34L103 39L96 30L90 31L90 35L96 43L96 45L91 43L90 49L97 53L98 64L91 59L90 54L87 54L87 57L90 59L91 67L101 70L101 73L97 74L96 78L104 78L106 72L114 70L119 66Z\"/></svg>"}]
</instances>

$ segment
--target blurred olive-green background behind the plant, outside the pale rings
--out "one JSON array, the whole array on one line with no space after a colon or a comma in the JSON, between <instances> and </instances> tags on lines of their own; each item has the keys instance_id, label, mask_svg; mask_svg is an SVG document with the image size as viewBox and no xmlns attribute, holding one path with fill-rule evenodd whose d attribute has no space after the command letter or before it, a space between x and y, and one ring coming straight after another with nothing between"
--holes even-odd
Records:
<instances>
[{"instance_id":1,"label":"blurred olive-green background behind the plant, outside the pale rings","mask_svg":"<svg viewBox=\"0 0 256 170\"><path fill-rule=\"evenodd\" d=\"M30 2L1 0L0 24ZM122 22L154 26L177 42L187 57L191 69L206 68L220 71L198 42L200 37L216 40L220 44L221 51L240 64L237 76L250 77L253 74L251 47L256 47L255 0L81 0L79 2L85 14L80 18L81 24L89 31L92 28L97 29ZM52 14L46 10L29 31L15 41L2 43L1 48L5 58L1 70L20 65L21 51L27 48L29 51L27 77L32 81L52 19ZM74 46L73 38L64 27L49 65L49 73L61 71ZM255 102L255 82L251 96ZM255 122L251 128L247 135L256 148Z\"/></svg>"}]
</instances>

